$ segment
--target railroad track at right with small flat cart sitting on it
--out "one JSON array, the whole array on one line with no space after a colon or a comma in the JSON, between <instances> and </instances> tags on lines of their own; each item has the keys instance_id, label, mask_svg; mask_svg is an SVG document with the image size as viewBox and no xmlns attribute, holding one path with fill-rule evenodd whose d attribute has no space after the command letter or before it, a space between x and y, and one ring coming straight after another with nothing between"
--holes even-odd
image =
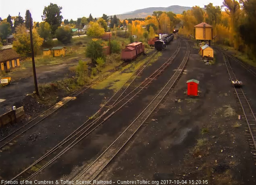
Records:
<instances>
[{"instance_id":1,"label":"railroad track at right with small flat cart sitting on it","mask_svg":"<svg viewBox=\"0 0 256 185\"><path fill-rule=\"evenodd\" d=\"M227 58L226 53L224 53L224 62L227 67L227 71L229 73L230 80L237 79L235 76L235 73L233 72L233 69L229 63L229 60ZM241 87L235 87L233 86L234 95L236 96L236 101L240 105L243 116L241 116L241 120L247 124L248 130L246 130L248 134L248 142L251 148L254 164L256 165L256 117L255 113L252 110L252 107L250 106L250 101L248 100L248 97L246 93L244 93L243 89Z\"/></svg>"}]
</instances>

